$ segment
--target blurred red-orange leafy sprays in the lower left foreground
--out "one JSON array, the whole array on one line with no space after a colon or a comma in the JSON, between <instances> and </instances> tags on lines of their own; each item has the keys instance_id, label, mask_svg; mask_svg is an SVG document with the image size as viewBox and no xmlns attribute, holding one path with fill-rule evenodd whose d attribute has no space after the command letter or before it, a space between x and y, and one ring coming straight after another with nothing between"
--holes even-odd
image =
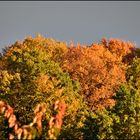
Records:
<instances>
[{"instance_id":1,"label":"blurred red-orange leafy sprays in the lower left foreground","mask_svg":"<svg viewBox=\"0 0 140 140\"><path fill-rule=\"evenodd\" d=\"M20 122L17 121L14 115L14 110L7 103L0 101L0 115L2 115L8 123L8 129L12 129L11 132L7 133L8 139L35 139L42 135L42 122L45 119L45 113L47 105L45 103L38 104L34 110L34 119L28 125L21 126ZM65 103L56 101L54 110L58 110L55 116L52 116L48 122L48 136L47 139L54 139L57 137L57 131L61 129L62 119L65 113ZM2 131L2 130L1 130ZM7 130L8 131L8 130ZM47 131L47 130L46 130ZM2 135L0 135L2 137Z\"/></svg>"}]
</instances>

